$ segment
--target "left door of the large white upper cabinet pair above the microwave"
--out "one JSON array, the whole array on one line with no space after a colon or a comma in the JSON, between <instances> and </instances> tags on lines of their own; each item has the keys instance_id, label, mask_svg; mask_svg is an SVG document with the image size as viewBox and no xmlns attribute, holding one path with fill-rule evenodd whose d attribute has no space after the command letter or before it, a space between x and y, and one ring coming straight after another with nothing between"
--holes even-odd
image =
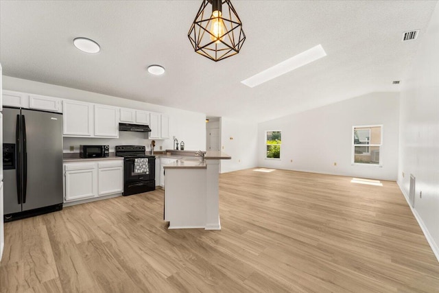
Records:
<instances>
[{"instance_id":1,"label":"left door of the large white upper cabinet pair above the microwave","mask_svg":"<svg viewBox=\"0 0 439 293\"><path fill-rule=\"evenodd\" d=\"M63 110L65 137L93 137L93 104L64 99Z\"/></svg>"}]
</instances>

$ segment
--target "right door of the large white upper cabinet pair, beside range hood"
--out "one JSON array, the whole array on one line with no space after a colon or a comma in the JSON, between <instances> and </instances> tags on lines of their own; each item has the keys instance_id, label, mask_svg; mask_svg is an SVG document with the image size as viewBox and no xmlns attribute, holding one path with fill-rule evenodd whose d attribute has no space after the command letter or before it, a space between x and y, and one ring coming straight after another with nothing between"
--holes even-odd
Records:
<instances>
[{"instance_id":1,"label":"right door of the large white upper cabinet pair, beside range hood","mask_svg":"<svg viewBox=\"0 0 439 293\"><path fill-rule=\"evenodd\" d=\"M95 137L119 137L119 108L95 105Z\"/></svg>"}]
</instances>

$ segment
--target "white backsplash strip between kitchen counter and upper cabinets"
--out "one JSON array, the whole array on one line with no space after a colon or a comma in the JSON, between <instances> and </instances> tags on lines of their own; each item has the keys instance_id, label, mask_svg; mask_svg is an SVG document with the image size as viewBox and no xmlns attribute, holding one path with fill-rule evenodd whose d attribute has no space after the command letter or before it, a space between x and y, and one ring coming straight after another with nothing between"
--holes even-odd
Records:
<instances>
[{"instance_id":1,"label":"white backsplash strip between kitchen counter and upper cabinets","mask_svg":"<svg viewBox=\"0 0 439 293\"><path fill-rule=\"evenodd\" d=\"M75 150L73 152L80 152L80 145L110 145L110 152L115 152L116 145L145 145L146 150L150 151L151 141L153 139L145 139L147 133L143 132L119 132L119 138L115 139L95 139L87 137L64 137L63 139L63 152L71 152L70 146L73 145ZM160 150L160 146L163 145L164 140L156 139L156 146L154 151ZM164 150L165 148L163 148Z\"/></svg>"}]
</instances>

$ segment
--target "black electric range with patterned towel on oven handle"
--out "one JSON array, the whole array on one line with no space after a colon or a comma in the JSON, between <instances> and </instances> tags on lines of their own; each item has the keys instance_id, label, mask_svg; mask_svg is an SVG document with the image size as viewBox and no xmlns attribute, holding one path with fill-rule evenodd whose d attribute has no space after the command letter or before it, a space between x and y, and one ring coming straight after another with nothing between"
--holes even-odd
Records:
<instances>
[{"instance_id":1,"label":"black electric range with patterned towel on oven handle","mask_svg":"<svg viewBox=\"0 0 439 293\"><path fill-rule=\"evenodd\" d=\"M145 145L116 145L116 156L123 156L123 196L156 189L156 157Z\"/></svg>"}]
</instances>

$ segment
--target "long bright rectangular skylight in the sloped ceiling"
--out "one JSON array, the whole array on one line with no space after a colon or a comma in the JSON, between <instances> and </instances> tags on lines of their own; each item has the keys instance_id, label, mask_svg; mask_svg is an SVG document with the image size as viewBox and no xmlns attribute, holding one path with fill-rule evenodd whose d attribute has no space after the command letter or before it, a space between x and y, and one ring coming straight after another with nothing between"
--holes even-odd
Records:
<instances>
[{"instance_id":1,"label":"long bright rectangular skylight in the sloped ceiling","mask_svg":"<svg viewBox=\"0 0 439 293\"><path fill-rule=\"evenodd\" d=\"M241 83L252 88L259 84L263 84L264 82L268 82L268 80L272 80L273 78L277 78L278 76L288 73L289 71L293 71L294 69L307 65L324 56L327 56L327 53L324 51L322 45L317 45L316 47L312 47L307 51L303 51L292 58L265 69L264 71L253 75L251 78L241 81Z\"/></svg>"}]
</instances>

